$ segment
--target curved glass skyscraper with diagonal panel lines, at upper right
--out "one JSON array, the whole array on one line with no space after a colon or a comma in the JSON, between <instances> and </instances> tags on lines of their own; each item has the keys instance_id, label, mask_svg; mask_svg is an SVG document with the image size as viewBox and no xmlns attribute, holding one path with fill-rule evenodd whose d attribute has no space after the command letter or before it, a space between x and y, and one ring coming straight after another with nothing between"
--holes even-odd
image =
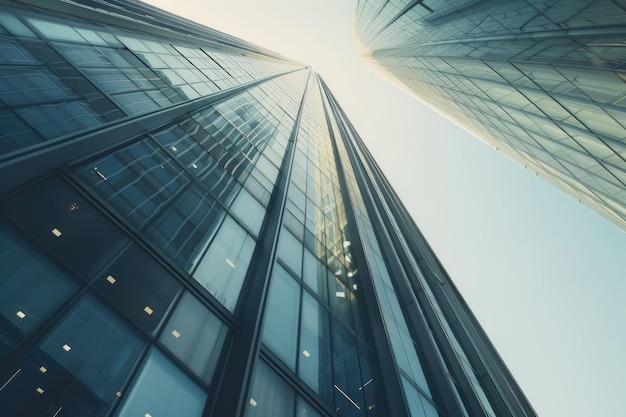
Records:
<instances>
[{"instance_id":1,"label":"curved glass skyscraper with diagonal panel lines, at upper right","mask_svg":"<svg viewBox=\"0 0 626 417\"><path fill-rule=\"evenodd\" d=\"M377 72L626 230L626 5L359 0Z\"/></svg>"}]
</instances>

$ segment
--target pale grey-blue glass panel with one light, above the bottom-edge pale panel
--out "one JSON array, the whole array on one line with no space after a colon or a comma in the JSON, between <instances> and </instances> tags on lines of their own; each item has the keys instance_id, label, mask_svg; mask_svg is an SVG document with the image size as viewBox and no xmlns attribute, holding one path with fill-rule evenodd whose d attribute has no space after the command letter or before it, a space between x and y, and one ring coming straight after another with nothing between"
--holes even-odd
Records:
<instances>
[{"instance_id":1,"label":"pale grey-blue glass panel with one light, above the bottom-edge pale panel","mask_svg":"<svg viewBox=\"0 0 626 417\"><path fill-rule=\"evenodd\" d=\"M186 292L161 333L160 341L207 383L211 382L227 327Z\"/></svg>"}]
</instances>

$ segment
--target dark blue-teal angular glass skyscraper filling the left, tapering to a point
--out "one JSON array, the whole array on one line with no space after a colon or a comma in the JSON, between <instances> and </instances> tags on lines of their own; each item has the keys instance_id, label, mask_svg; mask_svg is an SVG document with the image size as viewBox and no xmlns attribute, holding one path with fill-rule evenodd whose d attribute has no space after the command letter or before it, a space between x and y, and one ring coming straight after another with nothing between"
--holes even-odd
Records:
<instances>
[{"instance_id":1,"label":"dark blue-teal angular glass skyscraper filling the left, tapering to a point","mask_svg":"<svg viewBox=\"0 0 626 417\"><path fill-rule=\"evenodd\" d=\"M312 70L0 2L3 417L533 416Z\"/></svg>"}]
</instances>

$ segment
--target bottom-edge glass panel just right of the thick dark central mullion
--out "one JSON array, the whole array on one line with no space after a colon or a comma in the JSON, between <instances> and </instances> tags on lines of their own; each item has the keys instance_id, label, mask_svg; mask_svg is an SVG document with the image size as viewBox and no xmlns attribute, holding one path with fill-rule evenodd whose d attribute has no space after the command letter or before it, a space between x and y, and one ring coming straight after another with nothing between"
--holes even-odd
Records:
<instances>
[{"instance_id":1,"label":"bottom-edge glass panel just right of the thick dark central mullion","mask_svg":"<svg viewBox=\"0 0 626 417\"><path fill-rule=\"evenodd\" d=\"M293 416L294 403L293 389L264 362L257 362L245 417Z\"/></svg>"}]
</instances>

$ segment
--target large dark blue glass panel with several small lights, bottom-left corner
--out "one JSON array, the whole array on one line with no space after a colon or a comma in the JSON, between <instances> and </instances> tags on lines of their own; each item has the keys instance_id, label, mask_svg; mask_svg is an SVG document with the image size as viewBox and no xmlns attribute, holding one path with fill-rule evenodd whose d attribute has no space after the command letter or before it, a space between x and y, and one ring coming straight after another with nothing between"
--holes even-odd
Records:
<instances>
[{"instance_id":1,"label":"large dark blue glass panel with several small lights, bottom-left corner","mask_svg":"<svg viewBox=\"0 0 626 417\"><path fill-rule=\"evenodd\" d=\"M117 315L84 297L0 391L3 416L105 416L143 348Z\"/></svg>"}]
</instances>

